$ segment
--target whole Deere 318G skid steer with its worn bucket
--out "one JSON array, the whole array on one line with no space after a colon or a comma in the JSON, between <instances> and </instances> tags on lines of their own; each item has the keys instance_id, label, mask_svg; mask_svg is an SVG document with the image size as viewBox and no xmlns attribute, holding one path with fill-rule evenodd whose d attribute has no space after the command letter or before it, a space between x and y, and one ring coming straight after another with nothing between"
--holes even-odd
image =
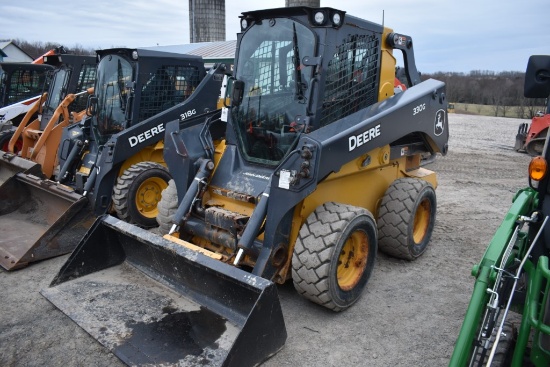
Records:
<instances>
[{"instance_id":1,"label":"whole Deere 318G skid steer with its worn bucket","mask_svg":"<svg viewBox=\"0 0 550 367\"><path fill-rule=\"evenodd\" d=\"M0 233L13 234L0 238L0 265L12 270L71 252L104 213L157 226L157 203L171 178L165 124L216 110L224 78L224 65L207 73L198 56L97 51L85 118L56 136L51 175L25 170L0 187Z\"/></svg>"}]
</instances>

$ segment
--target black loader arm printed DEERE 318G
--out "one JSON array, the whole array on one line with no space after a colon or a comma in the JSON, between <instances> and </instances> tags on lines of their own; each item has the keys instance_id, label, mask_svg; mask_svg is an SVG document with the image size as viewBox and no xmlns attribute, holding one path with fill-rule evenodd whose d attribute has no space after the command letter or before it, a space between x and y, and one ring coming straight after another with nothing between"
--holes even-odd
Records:
<instances>
[{"instance_id":1,"label":"black loader arm printed DEERE 318G","mask_svg":"<svg viewBox=\"0 0 550 367\"><path fill-rule=\"evenodd\" d=\"M184 102L148 118L115 134L98 155L95 169L98 170L94 189L89 199L95 215L104 214L111 202L112 190L120 166L137 152L164 139L166 124L180 121L185 124L190 117L200 116L217 109L220 88L225 76L225 65L212 68Z\"/></svg>"}]
</instances>

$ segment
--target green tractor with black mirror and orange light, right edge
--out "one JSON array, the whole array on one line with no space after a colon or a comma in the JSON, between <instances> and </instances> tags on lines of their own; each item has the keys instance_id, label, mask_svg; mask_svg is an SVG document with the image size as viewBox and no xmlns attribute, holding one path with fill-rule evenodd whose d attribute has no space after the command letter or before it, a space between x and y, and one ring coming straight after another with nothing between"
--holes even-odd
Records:
<instances>
[{"instance_id":1,"label":"green tractor with black mirror and orange light, right edge","mask_svg":"<svg viewBox=\"0 0 550 367\"><path fill-rule=\"evenodd\" d=\"M531 56L526 97L550 95L550 56ZM548 138L479 264L449 366L550 366Z\"/></svg>"}]
</instances>

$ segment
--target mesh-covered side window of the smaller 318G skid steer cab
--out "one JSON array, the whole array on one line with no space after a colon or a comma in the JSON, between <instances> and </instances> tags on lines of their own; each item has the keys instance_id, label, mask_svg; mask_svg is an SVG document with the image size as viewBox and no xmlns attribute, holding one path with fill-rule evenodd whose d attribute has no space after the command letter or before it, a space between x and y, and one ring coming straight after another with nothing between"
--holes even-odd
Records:
<instances>
[{"instance_id":1,"label":"mesh-covered side window of the smaller 318G skid steer cab","mask_svg":"<svg viewBox=\"0 0 550 367\"><path fill-rule=\"evenodd\" d=\"M192 66L163 65L141 89L139 121L186 100L199 85L199 70Z\"/></svg>"}]
</instances>

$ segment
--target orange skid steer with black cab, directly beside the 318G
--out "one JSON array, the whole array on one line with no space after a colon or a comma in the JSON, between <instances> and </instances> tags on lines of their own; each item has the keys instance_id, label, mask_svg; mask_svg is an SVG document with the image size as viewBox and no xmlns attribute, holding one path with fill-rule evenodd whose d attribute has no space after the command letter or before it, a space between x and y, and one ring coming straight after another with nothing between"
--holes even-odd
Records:
<instances>
[{"instance_id":1,"label":"orange skid steer with black cab, directly beside the 318G","mask_svg":"<svg viewBox=\"0 0 550 367\"><path fill-rule=\"evenodd\" d=\"M0 184L17 172L51 178L57 166L57 148L64 127L79 121L86 108L85 94L95 82L95 58L80 55L44 56L45 65L55 67L49 88L17 126L4 125L7 140L0 156ZM2 189L0 188L0 191Z\"/></svg>"}]
</instances>

